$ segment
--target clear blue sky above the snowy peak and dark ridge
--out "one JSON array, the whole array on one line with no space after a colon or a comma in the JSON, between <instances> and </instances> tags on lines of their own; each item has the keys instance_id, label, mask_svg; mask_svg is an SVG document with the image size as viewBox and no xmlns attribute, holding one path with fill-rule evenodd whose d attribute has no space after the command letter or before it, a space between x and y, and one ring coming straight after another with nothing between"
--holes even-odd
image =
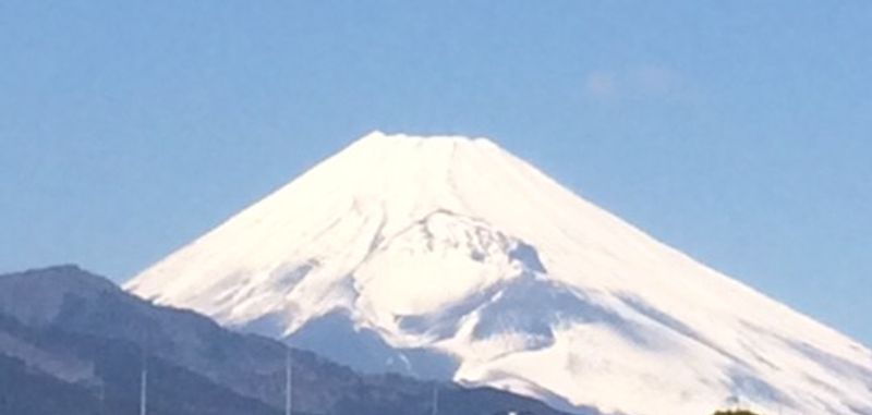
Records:
<instances>
[{"instance_id":1,"label":"clear blue sky above the snowy peak and dark ridge","mask_svg":"<svg viewBox=\"0 0 872 415\"><path fill-rule=\"evenodd\" d=\"M487 136L872 344L872 2L0 2L0 271L122 281L372 130Z\"/></svg>"}]
</instances>

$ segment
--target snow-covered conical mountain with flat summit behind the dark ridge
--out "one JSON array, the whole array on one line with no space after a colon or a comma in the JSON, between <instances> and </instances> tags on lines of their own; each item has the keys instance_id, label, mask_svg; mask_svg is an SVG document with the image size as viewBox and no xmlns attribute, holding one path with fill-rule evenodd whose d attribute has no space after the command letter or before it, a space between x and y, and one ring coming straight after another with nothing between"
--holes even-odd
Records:
<instances>
[{"instance_id":1,"label":"snow-covered conical mountain with flat summit behind the dark ridge","mask_svg":"<svg viewBox=\"0 0 872 415\"><path fill-rule=\"evenodd\" d=\"M483 138L372 133L125 288L580 413L872 414L863 345Z\"/></svg>"}]
</instances>

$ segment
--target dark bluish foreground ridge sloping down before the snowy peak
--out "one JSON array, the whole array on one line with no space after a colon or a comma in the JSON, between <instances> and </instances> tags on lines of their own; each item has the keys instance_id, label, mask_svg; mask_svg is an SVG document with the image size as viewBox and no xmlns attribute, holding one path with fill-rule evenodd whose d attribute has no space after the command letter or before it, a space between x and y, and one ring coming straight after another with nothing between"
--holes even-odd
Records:
<instances>
[{"instance_id":1,"label":"dark bluish foreground ridge sloping down before the snowy peak","mask_svg":"<svg viewBox=\"0 0 872 415\"><path fill-rule=\"evenodd\" d=\"M155 306L73 266L0 276L0 414L136 413L146 366L152 415L278 415L286 356L277 341ZM292 357L295 413L429 414L437 395L446 414L560 414L494 389Z\"/></svg>"}]
</instances>

